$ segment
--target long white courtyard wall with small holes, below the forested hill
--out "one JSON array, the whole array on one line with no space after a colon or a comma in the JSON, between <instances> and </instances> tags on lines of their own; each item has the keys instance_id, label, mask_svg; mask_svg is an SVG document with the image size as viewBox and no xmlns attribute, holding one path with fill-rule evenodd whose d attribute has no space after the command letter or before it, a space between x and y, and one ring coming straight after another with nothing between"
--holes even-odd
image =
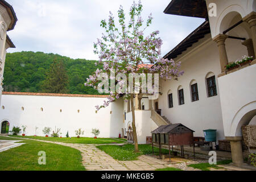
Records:
<instances>
[{"instance_id":1,"label":"long white courtyard wall with small holes, below the forested hill","mask_svg":"<svg viewBox=\"0 0 256 182\"><path fill-rule=\"evenodd\" d=\"M0 122L9 121L10 130L13 126L21 128L22 125L26 125L26 135L34 135L35 127L38 127L36 135L43 136L44 127L51 127L53 131L56 126L61 129L63 137L67 131L69 136L75 137L75 130L79 128L85 130L82 137L93 137L93 128L100 129L99 137L118 137L123 126L123 102L117 100L96 114L95 106L102 105L104 100L106 98L3 94Z\"/></svg>"}]
</instances>

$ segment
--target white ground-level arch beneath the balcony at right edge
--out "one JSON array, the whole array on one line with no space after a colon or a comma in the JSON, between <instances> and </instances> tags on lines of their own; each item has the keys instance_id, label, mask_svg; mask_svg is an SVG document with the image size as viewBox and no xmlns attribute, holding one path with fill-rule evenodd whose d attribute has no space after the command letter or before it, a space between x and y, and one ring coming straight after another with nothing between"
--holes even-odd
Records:
<instances>
[{"instance_id":1,"label":"white ground-level arch beneath the balcony at right edge","mask_svg":"<svg viewBox=\"0 0 256 182\"><path fill-rule=\"evenodd\" d=\"M256 101L241 107L240 110L234 115L230 127L230 135L234 137L242 136L241 127L249 125L251 119L256 115Z\"/></svg>"}]
</instances>

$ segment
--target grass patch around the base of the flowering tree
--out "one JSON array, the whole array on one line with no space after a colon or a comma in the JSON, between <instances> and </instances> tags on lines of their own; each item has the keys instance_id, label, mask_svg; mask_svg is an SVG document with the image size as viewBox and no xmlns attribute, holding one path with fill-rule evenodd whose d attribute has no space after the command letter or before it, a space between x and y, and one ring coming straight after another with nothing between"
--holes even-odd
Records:
<instances>
[{"instance_id":1,"label":"grass patch around the base of the flowering tree","mask_svg":"<svg viewBox=\"0 0 256 182\"><path fill-rule=\"evenodd\" d=\"M137 160L138 156L152 154L152 146L150 144L139 144L139 152L134 152L133 144L126 144L124 146L97 146L106 154L112 156L117 160ZM169 154L169 151L162 149L163 154ZM154 154L159 155L159 148L154 147Z\"/></svg>"}]
</instances>

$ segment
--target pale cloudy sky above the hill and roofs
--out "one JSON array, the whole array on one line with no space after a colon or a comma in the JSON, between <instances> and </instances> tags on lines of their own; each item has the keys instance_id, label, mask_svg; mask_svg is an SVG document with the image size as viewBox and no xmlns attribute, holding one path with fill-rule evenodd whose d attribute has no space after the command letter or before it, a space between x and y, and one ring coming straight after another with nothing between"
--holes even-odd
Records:
<instances>
[{"instance_id":1,"label":"pale cloudy sky above the hill and roofs","mask_svg":"<svg viewBox=\"0 0 256 182\"><path fill-rule=\"evenodd\" d=\"M122 5L128 14L131 0L6 0L14 7L18 22L8 34L16 48L8 52L41 51L74 59L97 60L93 42L101 37L102 19L109 11L117 17ZM162 56L197 28L204 19L164 14L171 0L142 0L143 19L152 13L147 32L160 31Z\"/></svg>"}]
</instances>

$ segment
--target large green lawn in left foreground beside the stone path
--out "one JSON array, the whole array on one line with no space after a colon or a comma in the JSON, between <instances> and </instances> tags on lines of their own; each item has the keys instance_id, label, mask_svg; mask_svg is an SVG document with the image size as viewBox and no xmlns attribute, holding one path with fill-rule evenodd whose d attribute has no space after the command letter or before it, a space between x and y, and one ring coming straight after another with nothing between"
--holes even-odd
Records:
<instances>
[{"instance_id":1,"label":"large green lawn in left foreground beside the stone path","mask_svg":"<svg viewBox=\"0 0 256 182\"><path fill-rule=\"evenodd\" d=\"M10 138L1 137L2 140ZM0 171L82 171L79 150L58 144L22 140L22 146L0 152ZM46 152L46 165L39 165L39 151Z\"/></svg>"}]
</instances>

